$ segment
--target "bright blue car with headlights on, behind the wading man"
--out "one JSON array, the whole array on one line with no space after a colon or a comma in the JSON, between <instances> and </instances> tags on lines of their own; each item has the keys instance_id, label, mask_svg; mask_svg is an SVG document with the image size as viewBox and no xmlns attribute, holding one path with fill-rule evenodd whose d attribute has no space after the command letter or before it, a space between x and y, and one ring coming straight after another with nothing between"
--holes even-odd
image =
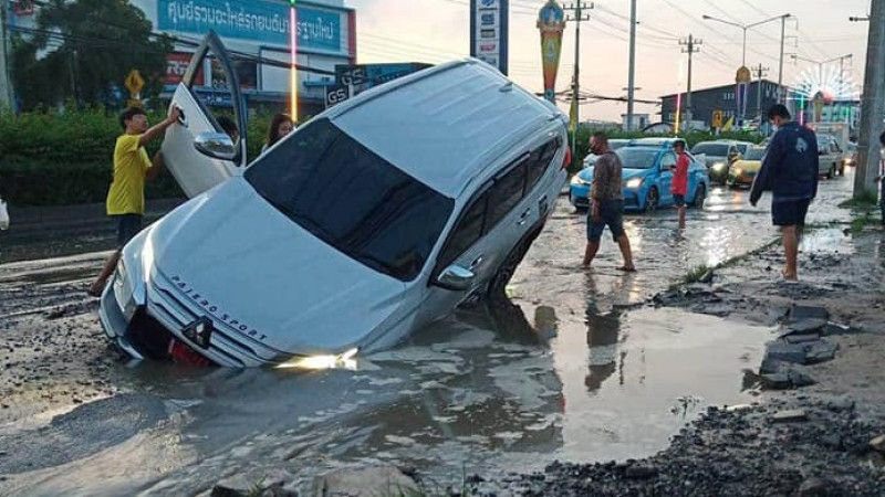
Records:
<instances>
[{"instance_id":1,"label":"bright blue car with headlights on, behind the wading man","mask_svg":"<svg viewBox=\"0 0 885 497\"><path fill-rule=\"evenodd\" d=\"M627 147L615 150L624 166L623 193L624 208L627 210L654 211L660 207L673 205L670 166L676 165L676 152L673 139L638 139ZM689 205L698 209L710 189L707 167L688 154L688 191L686 199ZM594 166L583 168L574 177L569 188L569 199L577 209L589 205L590 186L593 182Z\"/></svg>"}]
</instances>

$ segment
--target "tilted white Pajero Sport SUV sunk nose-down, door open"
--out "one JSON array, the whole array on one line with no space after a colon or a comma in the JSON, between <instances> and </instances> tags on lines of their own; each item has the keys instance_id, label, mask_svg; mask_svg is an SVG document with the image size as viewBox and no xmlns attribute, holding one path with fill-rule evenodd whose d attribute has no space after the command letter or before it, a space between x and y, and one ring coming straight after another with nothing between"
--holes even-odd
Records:
<instances>
[{"instance_id":1,"label":"tilted white Pajero Sport SUV sunk nose-down, door open","mask_svg":"<svg viewBox=\"0 0 885 497\"><path fill-rule=\"evenodd\" d=\"M163 145L191 191L238 155L190 77L209 52L237 81L209 33L173 97L186 125ZM133 239L101 298L104 331L134 358L228 367L392 347L504 294L566 181L566 126L473 59L366 91Z\"/></svg>"}]
</instances>

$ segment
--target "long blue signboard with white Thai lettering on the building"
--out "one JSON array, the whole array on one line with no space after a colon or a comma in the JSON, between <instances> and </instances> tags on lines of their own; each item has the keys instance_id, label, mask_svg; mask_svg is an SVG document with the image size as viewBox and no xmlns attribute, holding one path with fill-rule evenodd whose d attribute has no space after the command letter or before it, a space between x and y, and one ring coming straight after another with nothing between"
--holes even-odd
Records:
<instances>
[{"instance_id":1,"label":"long blue signboard with white Thai lettering on the building","mask_svg":"<svg viewBox=\"0 0 885 497\"><path fill-rule=\"evenodd\" d=\"M347 54L342 12L298 6L299 51ZM214 30L221 38L262 44L289 45L289 7L263 0L158 0L157 28L202 35Z\"/></svg>"}]
</instances>

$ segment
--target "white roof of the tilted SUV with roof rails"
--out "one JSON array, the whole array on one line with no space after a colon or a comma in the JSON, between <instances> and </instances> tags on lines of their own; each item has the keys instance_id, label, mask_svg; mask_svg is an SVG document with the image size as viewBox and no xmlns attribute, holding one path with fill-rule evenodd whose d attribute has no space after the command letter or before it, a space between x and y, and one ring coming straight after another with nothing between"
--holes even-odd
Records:
<instances>
[{"instance_id":1,"label":"white roof of the tilted SUV with roof rails","mask_svg":"<svg viewBox=\"0 0 885 497\"><path fill-rule=\"evenodd\" d=\"M394 80L330 110L346 134L452 198L507 151L568 124L562 110L475 59Z\"/></svg>"}]
</instances>

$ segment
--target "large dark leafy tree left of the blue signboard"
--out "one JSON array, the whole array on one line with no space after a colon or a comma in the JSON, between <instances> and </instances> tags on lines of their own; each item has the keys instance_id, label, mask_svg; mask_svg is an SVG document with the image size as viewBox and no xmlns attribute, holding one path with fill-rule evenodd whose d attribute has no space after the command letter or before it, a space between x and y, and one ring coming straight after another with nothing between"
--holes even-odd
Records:
<instances>
[{"instance_id":1,"label":"large dark leafy tree left of the blue signboard","mask_svg":"<svg viewBox=\"0 0 885 497\"><path fill-rule=\"evenodd\" d=\"M168 36L154 35L129 0L50 0L39 10L37 28L13 40L21 106L107 104L134 68L146 81L143 97L156 96L173 47Z\"/></svg>"}]
</instances>

